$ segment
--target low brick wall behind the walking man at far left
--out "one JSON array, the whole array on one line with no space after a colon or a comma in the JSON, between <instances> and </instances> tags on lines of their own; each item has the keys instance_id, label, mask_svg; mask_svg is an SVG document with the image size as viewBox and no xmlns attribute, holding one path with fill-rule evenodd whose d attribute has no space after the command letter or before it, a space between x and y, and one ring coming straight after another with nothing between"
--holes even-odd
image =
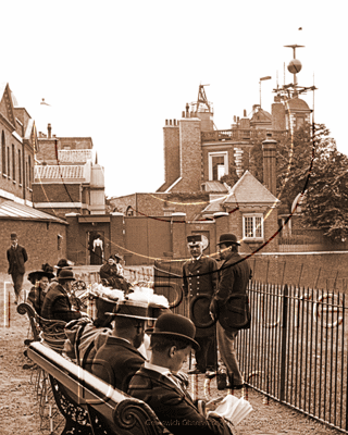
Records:
<instances>
[{"instance_id":1,"label":"low brick wall behind the walking man at far left","mask_svg":"<svg viewBox=\"0 0 348 435\"><path fill-rule=\"evenodd\" d=\"M66 257L66 225L53 222L1 219L0 272L8 272L7 249L11 245L10 234L13 232L17 234L18 244L24 246L28 253L28 261L25 264L26 272L40 269L44 263L54 265L60 258ZM63 236L60 244L58 243L59 234Z\"/></svg>"}]
</instances>

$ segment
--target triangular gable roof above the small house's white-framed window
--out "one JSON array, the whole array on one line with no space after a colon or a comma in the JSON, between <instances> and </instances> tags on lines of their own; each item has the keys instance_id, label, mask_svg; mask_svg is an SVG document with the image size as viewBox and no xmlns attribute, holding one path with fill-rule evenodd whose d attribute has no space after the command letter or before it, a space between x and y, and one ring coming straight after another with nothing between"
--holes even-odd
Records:
<instances>
[{"instance_id":1,"label":"triangular gable roof above the small house's white-framed window","mask_svg":"<svg viewBox=\"0 0 348 435\"><path fill-rule=\"evenodd\" d=\"M249 171L246 171L229 190L228 197L223 201L227 203L277 203L270 190L263 186Z\"/></svg>"}]
</instances>

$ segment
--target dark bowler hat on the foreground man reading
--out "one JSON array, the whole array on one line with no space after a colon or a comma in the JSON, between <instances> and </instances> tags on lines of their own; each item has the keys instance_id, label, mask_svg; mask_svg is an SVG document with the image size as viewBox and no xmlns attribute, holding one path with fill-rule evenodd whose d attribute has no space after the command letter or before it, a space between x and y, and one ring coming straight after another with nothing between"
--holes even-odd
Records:
<instances>
[{"instance_id":1,"label":"dark bowler hat on the foreground man reading","mask_svg":"<svg viewBox=\"0 0 348 435\"><path fill-rule=\"evenodd\" d=\"M163 313L154 323L153 331L149 331L151 336L165 336L188 341L194 349L199 349L199 344L194 339L196 326L192 321L181 314L172 312Z\"/></svg>"}]
</instances>

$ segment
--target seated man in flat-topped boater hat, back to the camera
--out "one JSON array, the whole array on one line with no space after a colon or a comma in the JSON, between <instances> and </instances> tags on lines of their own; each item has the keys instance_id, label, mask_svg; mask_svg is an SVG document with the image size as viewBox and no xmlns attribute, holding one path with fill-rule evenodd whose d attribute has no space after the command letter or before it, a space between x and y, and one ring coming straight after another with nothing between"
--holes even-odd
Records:
<instances>
[{"instance_id":1,"label":"seated man in flat-topped boater hat, back to the camera","mask_svg":"<svg viewBox=\"0 0 348 435\"><path fill-rule=\"evenodd\" d=\"M142 301L121 301L114 311L112 335L97 350L92 373L126 391L130 377L145 362L137 350L144 340L145 322L154 319L148 316L148 303Z\"/></svg>"}]
</instances>

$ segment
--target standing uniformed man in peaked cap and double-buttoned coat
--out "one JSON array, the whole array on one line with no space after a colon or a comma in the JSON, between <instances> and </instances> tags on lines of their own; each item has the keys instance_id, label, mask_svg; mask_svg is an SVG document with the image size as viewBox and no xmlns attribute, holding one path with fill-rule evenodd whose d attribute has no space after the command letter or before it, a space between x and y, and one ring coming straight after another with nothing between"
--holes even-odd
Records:
<instances>
[{"instance_id":1,"label":"standing uniformed man in peaked cap and double-buttoned coat","mask_svg":"<svg viewBox=\"0 0 348 435\"><path fill-rule=\"evenodd\" d=\"M217 365L216 328L209 313L211 298L217 285L217 263L204 257L201 235L187 237L187 246L191 254L183 266L184 294L189 298L190 319L196 326L196 341L200 349L196 351L196 369L189 374L206 373L214 376ZM201 327L212 324L210 327Z\"/></svg>"}]
</instances>

